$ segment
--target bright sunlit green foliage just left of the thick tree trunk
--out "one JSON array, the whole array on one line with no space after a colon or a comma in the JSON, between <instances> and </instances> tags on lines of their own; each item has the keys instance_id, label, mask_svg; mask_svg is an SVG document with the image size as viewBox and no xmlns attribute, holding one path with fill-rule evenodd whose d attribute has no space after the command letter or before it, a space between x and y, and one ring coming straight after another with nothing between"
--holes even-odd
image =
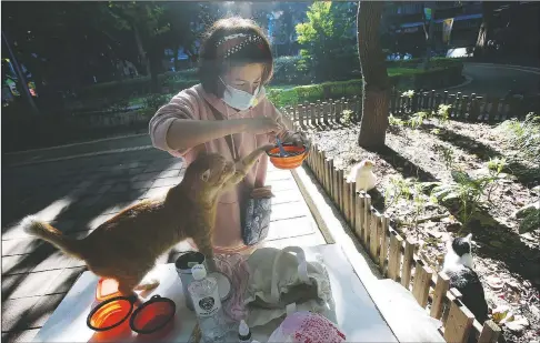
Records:
<instances>
[{"instance_id":1,"label":"bright sunlit green foliage just left of the thick tree trunk","mask_svg":"<svg viewBox=\"0 0 540 343\"><path fill-rule=\"evenodd\" d=\"M350 77L350 65L357 65L354 47L354 2L317 1L310 7L307 22L296 27L302 44L299 69L312 71L317 82Z\"/></svg>"}]
</instances>

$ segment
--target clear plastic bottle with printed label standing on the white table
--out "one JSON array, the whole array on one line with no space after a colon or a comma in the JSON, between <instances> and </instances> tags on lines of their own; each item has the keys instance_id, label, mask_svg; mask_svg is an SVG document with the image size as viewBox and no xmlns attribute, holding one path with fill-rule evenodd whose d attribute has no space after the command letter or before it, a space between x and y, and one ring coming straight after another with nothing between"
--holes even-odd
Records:
<instances>
[{"instance_id":1,"label":"clear plastic bottle with printed label standing on the white table","mask_svg":"<svg viewBox=\"0 0 540 343\"><path fill-rule=\"evenodd\" d=\"M207 276L207 270L202 264L193 265L191 273L194 280L188 286L188 291L193 301L202 341L206 343L224 342L227 329L218 282L216 279Z\"/></svg>"}]
</instances>

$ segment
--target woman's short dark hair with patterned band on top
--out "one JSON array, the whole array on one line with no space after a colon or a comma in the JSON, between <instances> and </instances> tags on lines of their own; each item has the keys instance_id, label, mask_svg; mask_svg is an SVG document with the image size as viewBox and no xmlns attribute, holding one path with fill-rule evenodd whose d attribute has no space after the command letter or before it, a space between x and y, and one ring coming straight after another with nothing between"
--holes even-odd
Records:
<instances>
[{"instance_id":1,"label":"woman's short dark hair with patterned band on top","mask_svg":"<svg viewBox=\"0 0 540 343\"><path fill-rule=\"evenodd\" d=\"M238 33L257 37L257 40L224 57L222 51L218 49L218 42L224 37ZM220 19L214 22L204 34L199 54L199 79L204 91L222 98L224 85L219 77L231 67L251 63L264 65L261 84L268 83L273 72L273 58L270 43L261 28L252 20L238 17Z\"/></svg>"}]
</instances>

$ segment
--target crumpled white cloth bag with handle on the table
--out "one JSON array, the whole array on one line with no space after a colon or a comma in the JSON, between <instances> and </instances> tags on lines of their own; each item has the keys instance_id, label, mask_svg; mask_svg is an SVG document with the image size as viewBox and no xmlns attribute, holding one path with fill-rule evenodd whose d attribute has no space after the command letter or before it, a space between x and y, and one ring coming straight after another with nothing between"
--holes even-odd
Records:
<instances>
[{"instance_id":1,"label":"crumpled white cloth bag with handle on the table","mask_svg":"<svg viewBox=\"0 0 540 343\"><path fill-rule=\"evenodd\" d=\"M261 248L247 262L250 280L244 304L249 309L247 323L250 327L282 316L290 304L294 304L298 311L333 311L324 265L320 261L306 261L301 248Z\"/></svg>"}]
</instances>

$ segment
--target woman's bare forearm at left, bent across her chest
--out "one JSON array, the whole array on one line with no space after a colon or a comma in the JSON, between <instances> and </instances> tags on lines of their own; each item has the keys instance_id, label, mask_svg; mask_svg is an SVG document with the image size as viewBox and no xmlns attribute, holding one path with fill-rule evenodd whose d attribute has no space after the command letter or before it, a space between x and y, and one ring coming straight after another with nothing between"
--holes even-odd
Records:
<instances>
[{"instance_id":1,"label":"woman's bare forearm at left, bent across her chest","mask_svg":"<svg viewBox=\"0 0 540 343\"><path fill-rule=\"evenodd\" d=\"M167 132L167 144L173 150L189 149L246 130L247 122L243 119L174 120Z\"/></svg>"}]
</instances>

